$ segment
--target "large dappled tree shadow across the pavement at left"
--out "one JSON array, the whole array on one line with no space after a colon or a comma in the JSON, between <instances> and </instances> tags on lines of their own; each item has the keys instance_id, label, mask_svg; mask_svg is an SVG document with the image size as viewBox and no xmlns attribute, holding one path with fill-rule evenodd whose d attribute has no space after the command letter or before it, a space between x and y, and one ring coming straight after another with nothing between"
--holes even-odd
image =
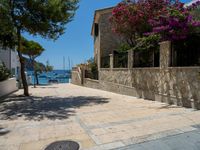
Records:
<instances>
[{"instance_id":1,"label":"large dappled tree shadow across the pavement at left","mask_svg":"<svg viewBox=\"0 0 200 150\"><path fill-rule=\"evenodd\" d=\"M108 103L108 98L94 96L78 97L23 97L11 96L0 103L0 120L67 119L75 115L76 108Z\"/></svg>"}]
</instances>

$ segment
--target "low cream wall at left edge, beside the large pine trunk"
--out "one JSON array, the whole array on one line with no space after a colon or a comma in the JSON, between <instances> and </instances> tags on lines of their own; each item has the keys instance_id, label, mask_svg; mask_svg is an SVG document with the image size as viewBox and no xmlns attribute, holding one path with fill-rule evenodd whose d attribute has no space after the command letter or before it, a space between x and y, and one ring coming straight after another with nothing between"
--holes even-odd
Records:
<instances>
[{"instance_id":1,"label":"low cream wall at left edge, beside the large pine trunk","mask_svg":"<svg viewBox=\"0 0 200 150\"><path fill-rule=\"evenodd\" d=\"M18 90L15 78L0 82L0 97L6 96Z\"/></svg>"}]
</instances>

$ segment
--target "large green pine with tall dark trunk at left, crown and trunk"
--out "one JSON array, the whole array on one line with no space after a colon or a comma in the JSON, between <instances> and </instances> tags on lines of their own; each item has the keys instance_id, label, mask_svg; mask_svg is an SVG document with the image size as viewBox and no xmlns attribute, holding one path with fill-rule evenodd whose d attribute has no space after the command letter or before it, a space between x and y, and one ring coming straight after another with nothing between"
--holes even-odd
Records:
<instances>
[{"instance_id":1,"label":"large green pine with tall dark trunk at left, crown and trunk","mask_svg":"<svg viewBox=\"0 0 200 150\"><path fill-rule=\"evenodd\" d=\"M65 25L70 22L77 9L78 0L1 0L0 22L3 28L9 26L9 37L16 37L17 52L21 63L21 78L24 95L29 96L25 76L24 60L21 53L21 35L28 32L44 38L56 40L64 33ZM7 33L7 32L5 32ZM2 33L1 33L2 34ZM15 36L11 36L14 34ZM5 34L3 33L3 37ZM0 41L4 43L3 41ZM13 42L13 43L14 43Z\"/></svg>"}]
</instances>

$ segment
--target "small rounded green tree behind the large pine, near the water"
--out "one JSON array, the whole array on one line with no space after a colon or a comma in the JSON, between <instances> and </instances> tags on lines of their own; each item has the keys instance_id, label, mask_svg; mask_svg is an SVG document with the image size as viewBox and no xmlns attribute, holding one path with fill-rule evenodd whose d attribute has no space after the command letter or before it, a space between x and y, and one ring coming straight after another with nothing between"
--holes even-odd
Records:
<instances>
[{"instance_id":1,"label":"small rounded green tree behind the large pine, near the water","mask_svg":"<svg viewBox=\"0 0 200 150\"><path fill-rule=\"evenodd\" d=\"M21 52L24 55L27 55L31 61L31 64L33 66L34 76L35 79L37 79L38 84L38 77L37 77L37 71L38 71L38 65L35 63L35 59L42 54L44 51L44 48L37 42L34 41L28 41L24 38L22 38L22 46L21 46ZM37 70L35 68L37 67ZM36 83L34 82L34 87L36 87Z\"/></svg>"}]
</instances>

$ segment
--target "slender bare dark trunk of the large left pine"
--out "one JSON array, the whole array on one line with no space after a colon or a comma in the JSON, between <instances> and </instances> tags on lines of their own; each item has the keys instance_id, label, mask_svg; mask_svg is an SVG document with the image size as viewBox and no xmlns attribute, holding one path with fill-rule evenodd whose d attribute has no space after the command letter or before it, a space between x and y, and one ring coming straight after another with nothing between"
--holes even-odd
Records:
<instances>
[{"instance_id":1,"label":"slender bare dark trunk of the large left pine","mask_svg":"<svg viewBox=\"0 0 200 150\"><path fill-rule=\"evenodd\" d=\"M23 88L24 88L24 95L29 96L28 84L27 84L26 75L25 75L24 60L23 60L22 54L20 52L20 49L21 49L21 32L20 32L20 29L17 29L17 44L18 44L17 52L18 52L19 61L20 61L20 64L21 64L21 79L22 79L22 84L23 84Z\"/></svg>"}]
</instances>

